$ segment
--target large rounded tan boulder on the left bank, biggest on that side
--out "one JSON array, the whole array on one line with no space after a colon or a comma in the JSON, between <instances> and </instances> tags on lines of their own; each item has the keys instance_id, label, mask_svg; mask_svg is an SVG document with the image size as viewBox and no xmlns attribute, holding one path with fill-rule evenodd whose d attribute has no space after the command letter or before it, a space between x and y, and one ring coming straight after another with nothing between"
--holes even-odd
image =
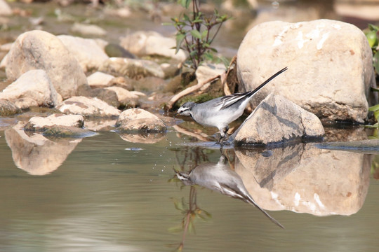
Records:
<instances>
[{"instance_id":1,"label":"large rounded tan boulder on the left bank, biggest on that side","mask_svg":"<svg viewBox=\"0 0 379 252\"><path fill-rule=\"evenodd\" d=\"M65 45L46 31L27 31L16 39L7 56L6 76L10 80L33 69L44 69L55 90L67 99L87 85L79 62Z\"/></svg>"}]
</instances>

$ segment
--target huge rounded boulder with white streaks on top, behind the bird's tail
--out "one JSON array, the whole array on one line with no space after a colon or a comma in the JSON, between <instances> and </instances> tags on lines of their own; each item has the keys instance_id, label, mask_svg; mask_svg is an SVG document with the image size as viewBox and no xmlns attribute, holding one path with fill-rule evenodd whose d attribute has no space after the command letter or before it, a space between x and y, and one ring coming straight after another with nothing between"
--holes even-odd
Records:
<instances>
[{"instance_id":1,"label":"huge rounded boulder with white streaks on top, behind the bird's tail","mask_svg":"<svg viewBox=\"0 0 379 252\"><path fill-rule=\"evenodd\" d=\"M246 34L237 55L237 75L253 90L288 66L256 94L281 94L319 118L363 122L368 93L375 86L372 52L364 33L333 20L266 22Z\"/></svg>"}]
</instances>

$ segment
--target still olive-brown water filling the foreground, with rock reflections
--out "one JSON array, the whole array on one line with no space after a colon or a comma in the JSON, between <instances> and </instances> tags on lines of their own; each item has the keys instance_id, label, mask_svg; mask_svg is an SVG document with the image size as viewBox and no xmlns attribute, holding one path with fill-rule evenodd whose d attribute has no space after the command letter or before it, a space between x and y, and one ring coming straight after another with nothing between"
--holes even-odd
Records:
<instances>
[{"instance_id":1,"label":"still olive-brown water filling the foreground, with rock reflections","mask_svg":"<svg viewBox=\"0 0 379 252\"><path fill-rule=\"evenodd\" d=\"M378 251L371 155L308 144L223 159L189 140L173 129L155 144L0 131L0 251ZM206 186L225 167L285 229ZM176 178L191 169L202 186Z\"/></svg>"}]
</instances>

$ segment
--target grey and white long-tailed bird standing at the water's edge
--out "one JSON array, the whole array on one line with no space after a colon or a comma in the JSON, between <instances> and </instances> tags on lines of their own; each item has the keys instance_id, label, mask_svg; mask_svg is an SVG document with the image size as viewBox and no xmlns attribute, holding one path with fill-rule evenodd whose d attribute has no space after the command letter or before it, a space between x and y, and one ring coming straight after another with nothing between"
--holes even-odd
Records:
<instances>
[{"instance_id":1,"label":"grey and white long-tailed bird standing at the water's edge","mask_svg":"<svg viewBox=\"0 0 379 252\"><path fill-rule=\"evenodd\" d=\"M286 70L287 67L281 69L252 91L218 97L201 104L186 102L180 106L176 114L191 116L197 123L204 126L217 127L221 135L217 143L220 144L225 139L226 133L229 130L228 125L242 116L253 95L269 83L270 80Z\"/></svg>"}]
</instances>

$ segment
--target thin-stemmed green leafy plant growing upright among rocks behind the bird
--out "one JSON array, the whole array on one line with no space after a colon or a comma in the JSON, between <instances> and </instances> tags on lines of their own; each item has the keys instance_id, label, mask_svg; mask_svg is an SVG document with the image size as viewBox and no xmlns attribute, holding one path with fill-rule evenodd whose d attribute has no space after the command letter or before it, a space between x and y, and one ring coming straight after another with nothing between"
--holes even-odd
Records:
<instances>
[{"instance_id":1,"label":"thin-stemmed green leafy plant growing upright among rocks behind the bird","mask_svg":"<svg viewBox=\"0 0 379 252\"><path fill-rule=\"evenodd\" d=\"M192 69L197 69L206 59L214 59L213 52L217 52L211 47L211 43L217 36L222 24L227 21L227 15L220 15L218 10L214 10L213 15L201 13L199 0L178 0L184 8L188 10L192 1L192 11L182 14L180 18L171 18L176 32L176 52L179 49L188 52L187 64ZM213 32L213 29L215 31Z\"/></svg>"}]
</instances>

